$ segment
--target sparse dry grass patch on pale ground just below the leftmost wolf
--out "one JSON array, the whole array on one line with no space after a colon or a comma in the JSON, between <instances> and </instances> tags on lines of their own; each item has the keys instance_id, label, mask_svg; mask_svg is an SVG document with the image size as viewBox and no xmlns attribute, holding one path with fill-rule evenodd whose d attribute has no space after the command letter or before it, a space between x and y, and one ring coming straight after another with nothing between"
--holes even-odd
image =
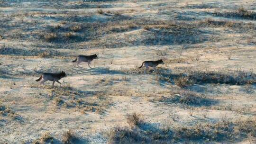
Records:
<instances>
[{"instance_id":1,"label":"sparse dry grass patch on pale ground just below the leftmost wolf","mask_svg":"<svg viewBox=\"0 0 256 144\"><path fill-rule=\"evenodd\" d=\"M31 88L41 88L38 85L31 85ZM111 105L110 99L105 97L106 93L95 91L82 91L62 84L59 86L44 86L48 90L50 100L54 101L57 108L75 108L82 114L86 112L96 112L104 114L105 108Z\"/></svg>"}]
</instances>

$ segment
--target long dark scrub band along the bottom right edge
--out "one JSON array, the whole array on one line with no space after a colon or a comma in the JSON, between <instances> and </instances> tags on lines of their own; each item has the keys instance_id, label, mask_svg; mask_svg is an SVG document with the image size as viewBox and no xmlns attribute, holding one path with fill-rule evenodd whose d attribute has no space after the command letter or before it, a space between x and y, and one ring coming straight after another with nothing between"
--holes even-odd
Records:
<instances>
[{"instance_id":1,"label":"long dark scrub band along the bottom right edge","mask_svg":"<svg viewBox=\"0 0 256 144\"><path fill-rule=\"evenodd\" d=\"M159 127L150 123L136 127L114 126L107 132L110 143L186 143L227 142L241 138L256 137L255 119L228 121L223 119L217 123L199 123L193 126Z\"/></svg>"}]
</instances>

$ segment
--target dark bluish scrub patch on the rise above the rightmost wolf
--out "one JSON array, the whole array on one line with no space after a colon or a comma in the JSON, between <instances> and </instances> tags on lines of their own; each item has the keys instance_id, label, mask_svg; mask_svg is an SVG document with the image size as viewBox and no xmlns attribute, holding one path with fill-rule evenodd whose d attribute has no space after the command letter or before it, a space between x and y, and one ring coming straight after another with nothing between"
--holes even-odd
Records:
<instances>
[{"instance_id":1,"label":"dark bluish scrub patch on the rise above the rightmost wolf","mask_svg":"<svg viewBox=\"0 0 256 144\"><path fill-rule=\"evenodd\" d=\"M196 44L207 40L205 31L187 23L149 26L142 34L147 36L142 41L145 45Z\"/></svg>"}]
</instances>

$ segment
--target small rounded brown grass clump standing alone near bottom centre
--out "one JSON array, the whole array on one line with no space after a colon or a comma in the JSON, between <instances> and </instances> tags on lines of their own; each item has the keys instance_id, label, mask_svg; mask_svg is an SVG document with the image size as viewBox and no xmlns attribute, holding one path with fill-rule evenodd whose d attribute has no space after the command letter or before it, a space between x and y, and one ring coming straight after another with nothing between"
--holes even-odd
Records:
<instances>
[{"instance_id":1,"label":"small rounded brown grass clump standing alone near bottom centre","mask_svg":"<svg viewBox=\"0 0 256 144\"><path fill-rule=\"evenodd\" d=\"M130 126L139 126L144 123L144 118L141 114L138 113L132 113L128 114L127 117L127 122Z\"/></svg>"}]
</instances>

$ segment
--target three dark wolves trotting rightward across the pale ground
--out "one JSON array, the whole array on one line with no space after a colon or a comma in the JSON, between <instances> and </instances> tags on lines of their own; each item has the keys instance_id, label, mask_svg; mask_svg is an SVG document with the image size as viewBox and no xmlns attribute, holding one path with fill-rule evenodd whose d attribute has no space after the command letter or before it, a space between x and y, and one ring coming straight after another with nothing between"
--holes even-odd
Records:
<instances>
[{"instance_id":1,"label":"three dark wolves trotting rightward across the pale ground","mask_svg":"<svg viewBox=\"0 0 256 144\"><path fill-rule=\"evenodd\" d=\"M99 59L97 54L93 54L93 55L79 55L76 57L75 60L73 60L73 63L76 63L78 67L80 63L85 62L88 64L88 67L91 68L90 64L91 61L94 59ZM144 73L146 73L146 70L148 70L149 67L152 67L154 69L154 72L156 71L156 66L159 64L165 64L163 62L162 59L157 60L157 61L144 61L140 67L138 67L139 69L142 67L145 67ZM45 85L44 83L46 81L53 81L53 86L54 83L57 82L61 85L61 82L59 81L60 79L67 77L65 72L60 72L60 73L43 73L39 79L37 79L36 81L40 81L40 85Z\"/></svg>"}]
</instances>

